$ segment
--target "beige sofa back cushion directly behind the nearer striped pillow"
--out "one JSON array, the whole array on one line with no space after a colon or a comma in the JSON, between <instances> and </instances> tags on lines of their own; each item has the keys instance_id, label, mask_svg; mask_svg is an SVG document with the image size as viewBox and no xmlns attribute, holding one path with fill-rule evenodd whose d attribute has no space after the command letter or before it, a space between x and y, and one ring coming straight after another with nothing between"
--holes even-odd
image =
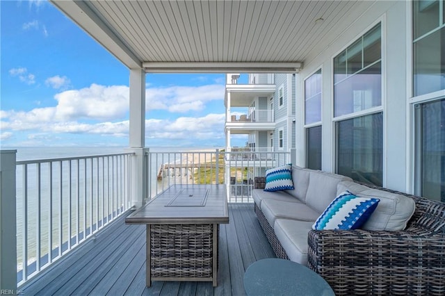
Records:
<instances>
[{"instance_id":1,"label":"beige sofa back cushion directly behind the nearer striped pillow","mask_svg":"<svg viewBox=\"0 0 445 296\"><path fill-rule=\"evenodd\" d=\"M371 189L354 182L341 182L337 192L349 190L359 197L380 199L377 208L369 220L361 227L372 231L398 231L405 229L415 210L415 202L411 197L398 195L384 190Z\"/></svg>"}]
</instances>

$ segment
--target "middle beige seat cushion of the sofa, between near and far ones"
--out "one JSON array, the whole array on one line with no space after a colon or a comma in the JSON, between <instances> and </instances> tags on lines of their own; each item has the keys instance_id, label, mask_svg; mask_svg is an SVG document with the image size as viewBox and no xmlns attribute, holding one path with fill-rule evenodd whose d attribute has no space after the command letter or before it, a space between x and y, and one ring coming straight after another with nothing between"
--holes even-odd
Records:
<instances>
[{"instance_id":1,"label":"middle beige seat cushion of the sofa, between near and far ones","mask_svg":"<svg viewBox=\"0 0 445 296\"><path fill-rule=\"evenodd\" d=\"M314 223L320 215L320 213L300 202L279 202L272 199L263 199L261 211L271 227L273 227L275 220L278 218L312 221Z\"/></svg>"}]
</instances>

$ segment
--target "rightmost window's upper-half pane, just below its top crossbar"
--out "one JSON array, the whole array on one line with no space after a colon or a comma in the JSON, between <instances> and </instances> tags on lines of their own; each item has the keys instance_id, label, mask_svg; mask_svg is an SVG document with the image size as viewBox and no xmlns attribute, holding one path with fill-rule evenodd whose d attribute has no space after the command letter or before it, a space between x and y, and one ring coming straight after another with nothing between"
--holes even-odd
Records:
<instances>
[{"instance_id":1,"label":"rightmost window's upper-half pane, just below its top crossbar","mask_svg":"<svg viewBox=\"0 0 445 296\"><path fill-rule=\"evenodd\" d=\"M445 28L414 43L414 95L445 89Z\"/></svg>"}]
</instances>

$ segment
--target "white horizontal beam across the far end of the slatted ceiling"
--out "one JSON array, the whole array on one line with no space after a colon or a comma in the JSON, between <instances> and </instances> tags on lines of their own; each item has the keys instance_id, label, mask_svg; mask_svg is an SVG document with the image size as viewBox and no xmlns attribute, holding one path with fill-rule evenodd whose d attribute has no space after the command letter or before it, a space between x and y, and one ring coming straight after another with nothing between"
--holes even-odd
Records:
<instances>
[{"instance_id":1,"label":"white horizontal beam across the far end of the slatted ceiling","mask_svg":"<svg viewBox=\"0 0 445 296\"><path fill-rule=\"evenodd\" d=\"M154 63L145 62L147 73L298 73L302 63Z\"/></svg>"}]
</instances>

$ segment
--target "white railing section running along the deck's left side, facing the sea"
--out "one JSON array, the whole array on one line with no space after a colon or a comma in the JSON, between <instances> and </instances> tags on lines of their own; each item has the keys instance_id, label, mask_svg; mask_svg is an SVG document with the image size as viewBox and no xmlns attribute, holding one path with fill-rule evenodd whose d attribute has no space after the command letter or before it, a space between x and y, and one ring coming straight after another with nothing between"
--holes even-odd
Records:
<instances>
[{"instance_id":1,"label":"white railing section running along the deck's left side, facing the sea","mask_svg":"<svg viewBox=\"0 0 445 296\"><path fill-rule=\"evenodd\" d=\"M131 207L133 154L17 161L17 285Z\"/></svg>"}]
</instances>

